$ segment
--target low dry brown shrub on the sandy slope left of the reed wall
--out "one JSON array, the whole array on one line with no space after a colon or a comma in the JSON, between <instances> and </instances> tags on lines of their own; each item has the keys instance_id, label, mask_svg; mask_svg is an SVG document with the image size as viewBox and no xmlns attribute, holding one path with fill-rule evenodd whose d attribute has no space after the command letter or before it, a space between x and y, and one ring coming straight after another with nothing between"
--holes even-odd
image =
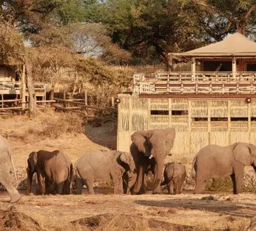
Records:
<instances>
[{"instance_id":1,"label":"low dry brown shrub on the sandy slope left of the reed wall","mask_svg":"<svg viewBox=\"0 0 256 231\"><path fill-rule=\"evenodd\" d=\"M58 117L46 116L38 135L56 139L63 133L84 133L83 120L76 113L62 112Z\"/></svg>"}]
</instances>

